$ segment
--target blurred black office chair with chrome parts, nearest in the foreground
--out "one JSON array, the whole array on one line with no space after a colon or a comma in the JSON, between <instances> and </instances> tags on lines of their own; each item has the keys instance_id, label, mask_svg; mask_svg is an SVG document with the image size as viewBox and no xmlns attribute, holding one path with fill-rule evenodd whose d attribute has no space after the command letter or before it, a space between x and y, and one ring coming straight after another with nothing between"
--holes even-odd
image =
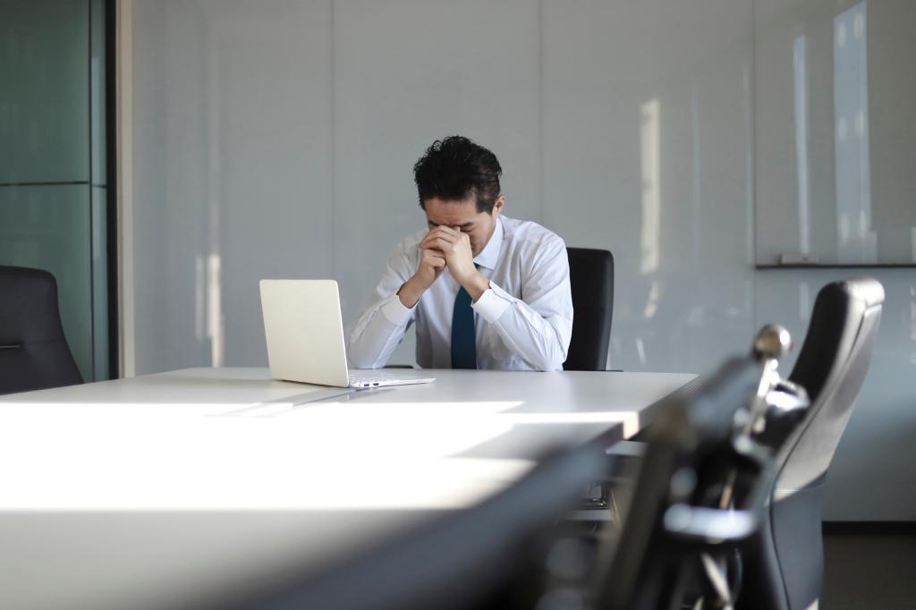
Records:
<instances>
[{"instance_id":1,"label":"blurred black office chair with chrome parts, nearest in the foreground","mask_svg":"<svg viewBox=\"0 0 916 610\"><path fill-rule=\"evenodd\" d=\"M788 345L788 333L764 327L750 357L669 399L619 539L596 563L591 608L733 607L739 551L765 520L784 432L810 404L775 373Z\"/></svg>"}]
</instances>

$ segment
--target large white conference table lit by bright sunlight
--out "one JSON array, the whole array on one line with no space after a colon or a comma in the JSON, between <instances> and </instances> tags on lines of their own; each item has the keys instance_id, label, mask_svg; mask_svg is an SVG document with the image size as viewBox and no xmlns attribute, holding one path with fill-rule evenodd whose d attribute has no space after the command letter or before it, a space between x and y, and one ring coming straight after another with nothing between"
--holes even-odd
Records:
<instances>
[{"instance_id":1,"label":"large white conference table lit by bright sunlight","mask_svg":"<svg viewBox=\"0 0 916 610\"><path fill-rule=\"evenodd\" d=\"M398 371L398 374L403 373ZM187 607L629 438L693 375L416 371L343 390L196 368L0 397L0 607Z\"/></svg>"}]
</instances>

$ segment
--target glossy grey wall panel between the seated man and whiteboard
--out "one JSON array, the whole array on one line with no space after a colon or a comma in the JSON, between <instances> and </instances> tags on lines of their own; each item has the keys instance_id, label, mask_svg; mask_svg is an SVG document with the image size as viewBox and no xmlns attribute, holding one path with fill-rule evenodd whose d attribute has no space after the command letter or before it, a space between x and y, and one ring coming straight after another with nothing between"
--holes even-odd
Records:
<instances>
[{"instance_id":1,"label":"glossy grey wall panel between the seated man and whiteboard","mask_svg":"<svg viewBox=\"0 0 916 610\"><path fill-rule=\"evenodd\" d=\"M543 3L544 221L614 253L614 368L703 372L749 345L751 16Z\"/></svg>"}]
</instances>

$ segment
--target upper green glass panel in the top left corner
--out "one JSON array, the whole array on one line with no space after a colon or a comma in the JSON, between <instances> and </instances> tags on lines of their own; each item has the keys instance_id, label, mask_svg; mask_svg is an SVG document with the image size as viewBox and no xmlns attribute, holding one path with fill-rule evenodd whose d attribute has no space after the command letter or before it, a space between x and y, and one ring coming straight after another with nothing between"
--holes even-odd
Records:
<instances>
[{"instance_id":1,"label":"upper green glass panel in the top left corner","mask_svg":"<svg viewBox=\"0 0 916 610\"><path fill-rule=\"evenodd\" d=\"M89 3L0 2L0 184L89 180Z\"/></svg>"}]
</instances>

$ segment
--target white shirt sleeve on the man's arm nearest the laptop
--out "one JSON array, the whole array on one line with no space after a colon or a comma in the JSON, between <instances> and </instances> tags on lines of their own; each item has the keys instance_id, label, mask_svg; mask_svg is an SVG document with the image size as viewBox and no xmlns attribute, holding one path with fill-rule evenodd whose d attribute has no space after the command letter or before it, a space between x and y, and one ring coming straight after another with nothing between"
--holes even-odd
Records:
<instances>
[{"instance_id":1,"label":"white shirt sleeve on the man's arm nearest the laptop","mask_svg":"<svg viewBox=\"0 0 916 610\"><path fill-rule=\"evenodd\" d=\"M388 256L385 273L378 281L363 314L346 333L346 354L351 368L381 368L404 338L413 321L416 305L404 307L398 289L413 275L406 248L398 245Z\"/></svg>"}]
</instances>

